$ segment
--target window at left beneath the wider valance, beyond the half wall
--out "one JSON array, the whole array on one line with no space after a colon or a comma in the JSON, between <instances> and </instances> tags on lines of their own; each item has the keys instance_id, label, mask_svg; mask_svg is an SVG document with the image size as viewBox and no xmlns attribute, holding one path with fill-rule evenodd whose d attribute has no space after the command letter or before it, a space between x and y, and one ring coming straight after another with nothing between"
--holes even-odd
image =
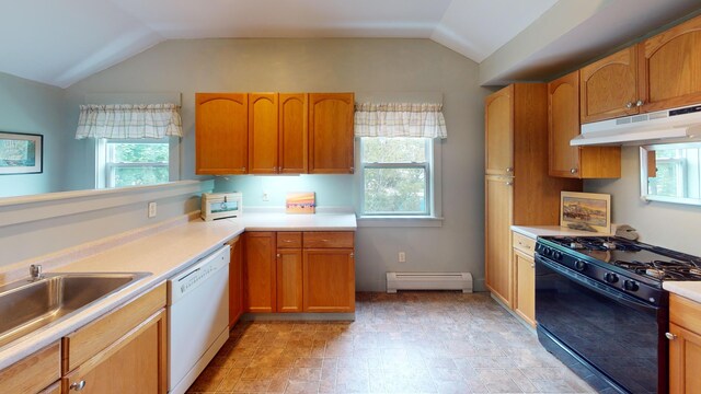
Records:
<instances>
[{"instance_id":1,"label":"window at left beneath the wider valance, beyond the half wall","mask_svg":"<svg viewBox=\"0 0 701 394\"><path fill-rule=\"evenodd\" d=\"M173 160L170 146L169 138L100 139L99 187L145 186L176 181L177 171L173 169L177 169L177 161Z\"/></svg>"}]
</instances>

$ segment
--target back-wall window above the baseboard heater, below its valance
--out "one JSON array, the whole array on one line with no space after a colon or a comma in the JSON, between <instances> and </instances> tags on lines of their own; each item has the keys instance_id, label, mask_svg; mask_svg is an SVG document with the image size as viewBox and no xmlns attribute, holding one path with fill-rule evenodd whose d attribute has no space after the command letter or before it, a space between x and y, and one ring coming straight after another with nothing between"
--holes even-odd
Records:
<instances>
[{"instance_id":1,"label":"back-wall window above the baseboard heater, below its valance","mask_svg":"<svg viewBox=\"0 0 701 394\"><path fill-rule=\"evenodd\" d=\"M364 216L433 215L433 139L360 139Z\"/></svg>"}]
</instances>

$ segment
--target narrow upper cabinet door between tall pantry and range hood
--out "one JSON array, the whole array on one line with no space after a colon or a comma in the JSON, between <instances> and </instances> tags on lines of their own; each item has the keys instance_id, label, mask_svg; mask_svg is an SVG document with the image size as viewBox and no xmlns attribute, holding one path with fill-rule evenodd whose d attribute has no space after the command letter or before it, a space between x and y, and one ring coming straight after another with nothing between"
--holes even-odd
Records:
<instances>
[{"instance_id":1,"label":"narrow upper cabinet door between tall pantry and range hood","mask_svg":"<svg viewBox=\"0 0 701 394\"><path fill-rule=\"evenodd\" d=\"M579 176L579 71L548 83L548 136L551 176Z\"/></svg>"}]
</instances>

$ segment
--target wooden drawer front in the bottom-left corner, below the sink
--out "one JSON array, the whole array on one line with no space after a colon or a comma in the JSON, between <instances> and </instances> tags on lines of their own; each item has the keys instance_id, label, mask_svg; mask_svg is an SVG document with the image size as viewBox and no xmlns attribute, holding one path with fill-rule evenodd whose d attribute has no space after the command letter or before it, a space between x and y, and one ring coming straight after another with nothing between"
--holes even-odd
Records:
<instances>
[{"instance_id":1,"label":"wooden drawer front in the bottom-left corner, below the sink","mask_svg":"<svg viewBox=\"0 0 701 394\"><path fill-rule=\"evenodd\" d=\"M0 371L0 393L36 393L60 374L58 341Z\"/></svg>"}]
</instances>

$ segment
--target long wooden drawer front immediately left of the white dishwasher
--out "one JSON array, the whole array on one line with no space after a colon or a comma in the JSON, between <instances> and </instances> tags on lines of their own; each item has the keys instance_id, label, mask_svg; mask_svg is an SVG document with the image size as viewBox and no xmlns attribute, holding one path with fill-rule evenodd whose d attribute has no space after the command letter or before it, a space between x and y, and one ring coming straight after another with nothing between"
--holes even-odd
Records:
<instances>
[{"instance_id":1,"label":"long wooden drawer front immediately left of the white dishwasher","mask_svg":"<svg viewBox=\"0 0 701 394\"><path fill-rule=\"evenodd\" d=\"M64 337L64 374L122 338L165 306L165 282L136 300Z\"/></svg>"}]
</instances>

